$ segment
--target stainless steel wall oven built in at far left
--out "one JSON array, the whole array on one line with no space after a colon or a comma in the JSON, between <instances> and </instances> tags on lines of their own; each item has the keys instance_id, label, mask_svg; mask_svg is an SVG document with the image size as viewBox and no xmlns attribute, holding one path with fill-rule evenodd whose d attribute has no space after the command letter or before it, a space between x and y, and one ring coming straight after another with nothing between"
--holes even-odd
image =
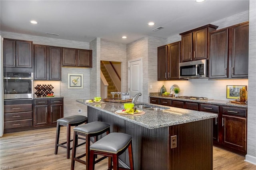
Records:
<instances>
[{"instance_id":1,"label":"stainless steel wall oven built in at far left","mask_svg":"<svg viewBox=\"0 0 256 170\"><path fill-rule=\"evenodd\" d=\"M4 99L33 99L33 73L4 73Z\"/></svg>"}]
</instances>

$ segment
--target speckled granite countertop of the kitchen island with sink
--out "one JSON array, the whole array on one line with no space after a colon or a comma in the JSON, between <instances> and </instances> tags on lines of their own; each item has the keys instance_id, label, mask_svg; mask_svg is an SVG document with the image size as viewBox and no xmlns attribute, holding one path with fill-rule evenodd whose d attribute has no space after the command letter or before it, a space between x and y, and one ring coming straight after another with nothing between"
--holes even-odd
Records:
<instances>
[{"instance_id":1,"label":"speckled granite countertop of the kitchen island with sink","mask_svg":"<svg viewBox=\"0 0 256 170\"><path fill-rule=\"evenodd\" d=\"M201 121L205 119L211 119L218 117L216 114L192 111L187 109L180 109L176 107L168 107L162 105L154 105L149 103L141 103L138 102L136 105L148 105L153 107L158 107L166 110L160 111L145 111L144 115L117 115L115 111L124 109L124 103L114 103L114 102L104 102L101 104L87 104L85 103L86 99L78 99L76 100L79 103L87 105L88 107L92 107L94 109L98 109L110 115L114 115L116 117L120 117L126 121L130 121L142 127L154 129L161 127L168 127L173 125L180 125L189 122Z\"/></svg>"}]
</instances>

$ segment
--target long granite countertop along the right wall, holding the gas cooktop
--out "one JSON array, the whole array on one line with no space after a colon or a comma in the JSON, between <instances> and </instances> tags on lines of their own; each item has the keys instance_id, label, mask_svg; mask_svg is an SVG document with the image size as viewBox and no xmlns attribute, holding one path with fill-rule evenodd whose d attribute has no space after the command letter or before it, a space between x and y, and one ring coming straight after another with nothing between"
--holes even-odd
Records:
<instances>
[{"instance_id":1,"label":"long granite countertop along the right wall, holding the gas cooktop","mask_svg":"<svg viewBox=\"0 0 256 170\"><path fill-rule=\"evenodd\" d=\"M234 107L245 107L245 108L248 107L246 104L231 103L230 101L233 100L233 99L230 99L230 101L214 100L214 99L192 100L192 99L181 99L181 98L176 98L176 97L164 97L164 96L160 95L160 93L150 93L149 97L156 97L156 98L160 98L160 99L180 100L180 101L191 101L191 102L196 102L196 103L207 103L207 104L215 104L215 105L234 106Z\"/></svg>"}]
</instances>

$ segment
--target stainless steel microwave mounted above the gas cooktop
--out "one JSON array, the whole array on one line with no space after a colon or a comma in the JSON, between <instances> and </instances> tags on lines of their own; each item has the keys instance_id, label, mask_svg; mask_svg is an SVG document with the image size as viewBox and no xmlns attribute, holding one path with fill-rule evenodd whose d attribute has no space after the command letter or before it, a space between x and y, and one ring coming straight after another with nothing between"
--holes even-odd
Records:
<instances>
[{"instance_id":1,"label":"stainless steel microwave mounted above the gas cooktop","mask_svg":"<svg viewBox=\"0 0 256 170\"><path fill-rule=\"evenodd\" d=\"M208 60L196 60L179 63L179 78L208 78Z\"/></svg>"}]
</instances>

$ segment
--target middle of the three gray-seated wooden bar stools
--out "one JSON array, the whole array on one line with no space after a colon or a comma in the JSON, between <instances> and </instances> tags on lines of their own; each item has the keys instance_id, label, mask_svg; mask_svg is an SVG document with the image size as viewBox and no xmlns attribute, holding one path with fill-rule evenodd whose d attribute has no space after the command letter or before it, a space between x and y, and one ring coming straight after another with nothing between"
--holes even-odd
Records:
<instances>
[{"instance_id":1,"label":"middle of the three gray-seated wooden bar stools","mask_svg":"<svg viewBox=\"0 0 256 170\"><path fill-rule=\"evenodd\" d=\"M110 133L110 125L104 122L91 122L87 123L85 125L80 125L78 127L75 127L74 129L74 138L73 138L73 150L72 150L72 162L71 162L71 170L74 170L75 161L80 162L82 164L86 165L86 170L89 169L89 158L90 158L90 137L96 137L96 140L98 139L98 135L103 134L106 132L106 134ZM80 156L76 157L76 148L77 141L78 141L78 135L85 136L86 137L86 153L82 154ZM81 160L80 158L83 158L86 156L86 161ZM97 162L100 162L101 160L107 158L102 157L97 160Z\"/></svg>"}]
</instances>

